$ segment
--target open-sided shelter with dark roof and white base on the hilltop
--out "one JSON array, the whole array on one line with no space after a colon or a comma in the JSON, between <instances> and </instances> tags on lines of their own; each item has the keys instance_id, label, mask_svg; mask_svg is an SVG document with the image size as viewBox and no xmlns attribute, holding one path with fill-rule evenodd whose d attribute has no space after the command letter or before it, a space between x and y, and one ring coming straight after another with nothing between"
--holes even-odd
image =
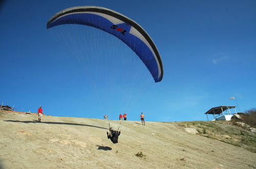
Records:
<instances>
[{"instance_id":1,"label":"open-sided shelter with dark roof and white base on the hilltop","mask_svg":"<svg viewBox=\"0 0 256 169\"><path fill-rule=\"evenodd\" d=\"M232 108L234 109L234 113L230 112L230 109L232 109ZM205 112L205 115L206 115L208 121L209 121L209 119L208 119L207 115L214 116L214 120L212 120L212 121L215 121L215 120L229 121L234 114L237 114L236 106L212 107L211 109L209 109L208 111Z\"/></svg>"}]
</instances>

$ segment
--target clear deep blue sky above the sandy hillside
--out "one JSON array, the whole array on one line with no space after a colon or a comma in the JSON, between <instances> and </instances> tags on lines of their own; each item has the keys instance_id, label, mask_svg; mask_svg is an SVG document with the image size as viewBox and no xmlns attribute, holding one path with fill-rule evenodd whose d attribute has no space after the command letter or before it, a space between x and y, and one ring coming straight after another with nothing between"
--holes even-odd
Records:
<instances>
[{"instance_id":1,"label":"clear deep blue sky above the sandy hillside","mask_svg":"<svg viewBox=\"0 0 256 169\"><path fill-rule=\"evenodd\" d=\"M111 60L81 61L79 55L72 54L79 48L68 49L62 43L61 39L68 35L65 30L59 33L58 26L46 29L55 13L86 5L115 10L139 23L161 54L163 80L154 83L142 67L139 75L150 81L142 87L134 85L133 92L127 92L122 85L130 89L130 83L124 80L120 85L115 81L126 77L118 65L113 67L113 75L105 77L104 73L96 73L95 77L92 75L95 72L88 72L87 68L92 65L102 71L100 68L111 64ZM255 108L255 21L254 0L2 1L0 102L14 104L18 111L36 112L41 105L44 112L52 116L101 119L106 113L110 119L117 120L119 114L126 111L128 120L139 120L140 112L144 112L146 121L161 122L207 120L204 112L211 107L236 106L230 97L236 97L241 111ZM96 31L96 37L98 35L112 38L102 31ZM95 38L95 35L90 33L89 37ZM113 37L111 41L120 40ZM125 57L126 52L132 54L121 41L118 44L121 47L114 49L104 48L108 41L96 43L100 49L92 45L88 50L103 54L111 49L114 51L110 53L121 57ZM76 46L77 42L73 44ZM125 71L130 73L129 67ZM101 81L108 78L112 79L111 87ZM133 84L136 83L141 83L141 79L136 78ZM118 98L119 95L124 97ZM123 104L126 106L121 106Z\"/></svg>"}]
</instances>

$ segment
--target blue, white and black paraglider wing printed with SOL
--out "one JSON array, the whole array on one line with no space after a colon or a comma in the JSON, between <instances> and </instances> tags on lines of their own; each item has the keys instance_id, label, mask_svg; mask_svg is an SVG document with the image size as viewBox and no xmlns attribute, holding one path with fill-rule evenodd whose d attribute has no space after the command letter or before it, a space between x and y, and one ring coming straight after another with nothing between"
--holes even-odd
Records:
<instances>
[{"instance_id":1,"label":"blue, white and black paraglider wing printed with SOL","mask_svg":"<svg viewBox=\"0 0 256 169\"><path fill-rule=\"evenodd\" d=\"M145 30L132 19L113 10L95 7L72 7L56 13L47 29L61 24L82 24L108 32L128 45L145 64L155 82L163 78L163 64L159 51Z\"/></svg>"}]
</instances>

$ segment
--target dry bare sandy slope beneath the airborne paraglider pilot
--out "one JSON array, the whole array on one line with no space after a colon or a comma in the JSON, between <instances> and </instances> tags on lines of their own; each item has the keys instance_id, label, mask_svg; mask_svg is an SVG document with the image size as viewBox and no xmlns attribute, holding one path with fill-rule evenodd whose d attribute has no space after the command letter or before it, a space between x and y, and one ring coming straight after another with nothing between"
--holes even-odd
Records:
<instances>
[{"instance_id":1,"label":"dry bare sandy slope beneath the airborne paraglider pilot","mask_svg":"<svg viewBox=\"0 0 256 169\"><path fill-rule=\"evenodd\" d=\"M108 122L0 111L3 168L255 168L256 155L189 134L174 123L123 121L119 143L106 137ZM142 152L145 157L135 154Z\"/></svg>"}]
</instances>

